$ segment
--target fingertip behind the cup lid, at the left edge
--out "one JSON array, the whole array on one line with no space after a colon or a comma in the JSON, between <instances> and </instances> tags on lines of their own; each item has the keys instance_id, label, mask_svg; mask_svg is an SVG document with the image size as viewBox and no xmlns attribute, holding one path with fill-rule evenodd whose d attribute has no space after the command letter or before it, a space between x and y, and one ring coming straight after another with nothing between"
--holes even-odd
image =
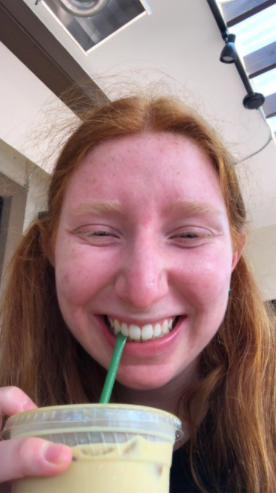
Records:
<instances>
[{"instance_id":1,"label":"fingertip behind the cup lid, at the left edge","mask_svg":"<svg viewBox=\"0 0 276 493\"><path fill-rule=\"evenodd\" d=\"M18 387L0 388L0 417L35 409L35 403Z\"/></svg>"}]
</instances>

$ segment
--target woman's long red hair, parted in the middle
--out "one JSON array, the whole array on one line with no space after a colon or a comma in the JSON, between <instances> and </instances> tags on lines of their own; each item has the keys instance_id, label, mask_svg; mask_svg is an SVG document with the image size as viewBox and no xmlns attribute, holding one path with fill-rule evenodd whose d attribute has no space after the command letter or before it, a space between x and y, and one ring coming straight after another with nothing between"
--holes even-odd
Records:
<instances>
[{"instance_id":1,"label":"woman's long red hair, parted in the middle","mask_svg":"<svg viewBox=\"0 0 276 493\"><path fill-rule=\"evenodd\" d=\"M174 98L137 96L87 111L57 161L47 215L34 222L14 254L2 301L0 385L22 388L40 406L98 401L105 371L65 326L48 257L68 181L84 155L101 142L142 131L177 133L206 152L220 179L235 248L243 239L246 213L233 158L191 108ZM199 414L209 409L206 436L190 415L192 469L203 492L199 461L212 491L214 472L230 468L229 491L274 493L275 330L243 257L231 289L224 321L201 354L200 381L185 393L188 414L194 399Z\"/></svg>"}]
</instances>

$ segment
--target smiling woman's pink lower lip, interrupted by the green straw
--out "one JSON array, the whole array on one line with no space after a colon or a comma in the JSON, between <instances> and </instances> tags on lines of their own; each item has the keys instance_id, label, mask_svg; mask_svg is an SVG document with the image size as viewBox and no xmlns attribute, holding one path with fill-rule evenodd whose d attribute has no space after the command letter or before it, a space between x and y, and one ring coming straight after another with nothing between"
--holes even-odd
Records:
<instances>
[{"instance_id":1,"label":"smiling woman's pink lower lip, interrupted by the green straw","mask_svg":"<svg viewBox=\"0 0 276 493\"><path fill-rule=\"evenodd\" d=\"M113 349L116 343L116 336L113 335L108 330L102 316L94 315L94 317L97 319L104 336L106 337L106 339L108 340L109 344L112 346ZM176 343L176 340L179 337L179 333L181 331L183 323L185 323L187 319L188 319L187 315L180 315L174 329L168 334L166 334L165 336L160 337L158 339L152 339L151 341L146 341L146 342L126 341L123 351L123 356L129 355L129 356L135 356L137 358L139 357L146 358L146 357L153 357L157 355L160 356L166 353L170 349L170 347Z\"/></svg>"}]
</instances>

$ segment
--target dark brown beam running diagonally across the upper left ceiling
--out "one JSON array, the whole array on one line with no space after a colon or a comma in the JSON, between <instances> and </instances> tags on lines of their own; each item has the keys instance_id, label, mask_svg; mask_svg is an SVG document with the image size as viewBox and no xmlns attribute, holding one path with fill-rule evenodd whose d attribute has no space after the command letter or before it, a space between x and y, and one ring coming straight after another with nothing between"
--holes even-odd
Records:
<instances>
[{"instance_id":1,"label":"dark brown beam running diagonally across the upper left ceiling","mask_svg":"<svg viewBox=\"0 0 276 493\"><path fill-rule=\"evenodd\" d=\"M80 103L89 105L91 100L106 99L22 0L0 0L0 41L73 111L78 112ZM74 100L64 99L64 93L72 87Z\"/></svg>"}]
</instances>

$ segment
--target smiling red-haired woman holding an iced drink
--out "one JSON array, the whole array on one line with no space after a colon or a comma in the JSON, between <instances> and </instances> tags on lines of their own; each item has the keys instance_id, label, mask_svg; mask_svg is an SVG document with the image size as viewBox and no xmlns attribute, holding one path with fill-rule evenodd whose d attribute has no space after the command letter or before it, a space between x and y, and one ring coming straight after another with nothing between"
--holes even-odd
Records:
<instances>
[{"instance_id":1,"label":"smiling red-haired woman holding an iced drink","mask_svg":"<svg viewBox=\"0 0 276 493\"><path fill-rule=\"evenodd\" d=\"M123 331L113 401L183 422L171 491L274 492L275 334L242 257L245 225L232 157L180 101L88 114L13 259L2 415L98 402ZM0 443L0 482L61 473L70 450L47 447Z\"/></svg>"}]
</instances>

